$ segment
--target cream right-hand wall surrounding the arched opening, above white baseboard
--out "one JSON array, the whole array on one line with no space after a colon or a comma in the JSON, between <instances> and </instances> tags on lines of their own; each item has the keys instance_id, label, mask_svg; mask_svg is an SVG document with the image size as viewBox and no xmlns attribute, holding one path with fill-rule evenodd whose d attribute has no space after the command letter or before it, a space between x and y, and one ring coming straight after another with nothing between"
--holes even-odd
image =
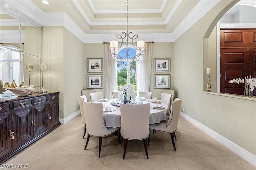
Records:
<instances>
[{"instance_id":1,"label":"cream right-hand wall surrounding the arched opening, above white baseboard","mask_svg":"<svg viewBox=\"0 0 256 170\"><path fill-rule=\"evenodd\" d=\"M207 67L203 65L204 36L220 19L218 14L234 5L230 3L220 1L174 42L174 89L186 115L256 155L256 102L202 93Z\"/></svg>"}]
</instances>

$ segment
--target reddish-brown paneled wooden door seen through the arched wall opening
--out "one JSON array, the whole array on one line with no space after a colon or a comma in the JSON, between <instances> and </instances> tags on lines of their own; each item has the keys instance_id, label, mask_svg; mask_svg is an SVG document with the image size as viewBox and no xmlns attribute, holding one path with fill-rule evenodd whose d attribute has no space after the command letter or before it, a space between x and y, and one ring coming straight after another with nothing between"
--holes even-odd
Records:
<instances>
[{"instance_id":1,"label":"reddish-brown paneled wooden door seen through the arched wall opening","mask_svg":"<svg viewBox=\"0 0 256 170\"><path fill-rule=\"evenodd\" d=\"M244 95L244 83L229 80L256 78L256 29L220 30L220 55L220 92Z\"/></svg>"}]
</instances>

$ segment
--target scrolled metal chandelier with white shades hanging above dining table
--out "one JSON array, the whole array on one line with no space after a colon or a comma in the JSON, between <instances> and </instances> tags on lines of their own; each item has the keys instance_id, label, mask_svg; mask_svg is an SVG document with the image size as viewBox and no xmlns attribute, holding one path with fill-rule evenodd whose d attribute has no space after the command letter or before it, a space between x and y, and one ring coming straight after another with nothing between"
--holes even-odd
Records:
<instances>
[{"instance_id":1,"label":"scrolled metal chandelier with white shades hanging above dining table","mask_svg":"<svg viewBox=\"0 0 256 170\"><path fill-rule=\"evenodd\" d=\"M111 40L110 41L110 49L111 49L111 54L112 58L115 58L117 61L120 61L120 63L125 64L124 60L127 61L127 64L132 64L134 61L137 61L140 59L141 55L144 53L144 48L145 48L145 42L143 40L139 40L137 42L134 42L138 38L138 35L135 34L132 36L132 32L128 33L128 0L126 0L126 32L122 32L124 34L123 36L120 34L117 34L116 37L119 40L122 40L121 43L118 43L116 40ZM118 54L118 50L122 47L123 43L125 43L126 39L126 54L125 56L120 56ZM134 49L136 49L136 54L134 56L129 55L129 39L132 41L131 45ZM120 46L118 47L118 44ZM128 63L128 60L131 62Z\"/></svg>"}]
</instances>

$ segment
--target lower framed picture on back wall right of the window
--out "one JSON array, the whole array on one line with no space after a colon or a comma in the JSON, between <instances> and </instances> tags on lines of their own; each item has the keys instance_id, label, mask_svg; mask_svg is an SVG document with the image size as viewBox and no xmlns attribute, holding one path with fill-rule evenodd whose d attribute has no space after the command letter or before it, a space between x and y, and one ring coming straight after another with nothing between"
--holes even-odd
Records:
<instances>
[{"instance_id":1,"label":"lower framed picture on back wall right of the window","mask_svg":"<svg viewBox=\"0 0 256 170\"><path fill-rule=\"evenodd\" d=\"M154 89L170 89L170 74L154 74Z\"/></svg>"}]
</instances>

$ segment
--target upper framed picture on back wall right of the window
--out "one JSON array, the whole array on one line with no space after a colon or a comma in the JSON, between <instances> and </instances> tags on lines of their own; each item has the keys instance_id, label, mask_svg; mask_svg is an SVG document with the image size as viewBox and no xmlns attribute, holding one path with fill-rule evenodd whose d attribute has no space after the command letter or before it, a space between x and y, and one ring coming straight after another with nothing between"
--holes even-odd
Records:
<instances>
[{"instance_id":1,"label":"upper framed picture on back wall right of the window","mask_svg":"<svg viewBox=\"0 0 256 170\"><path fill-rule=\"evenodd\" d=\"M170 71L170 58L154 58L154 72Z\"/></svg>"}]
</instances>

